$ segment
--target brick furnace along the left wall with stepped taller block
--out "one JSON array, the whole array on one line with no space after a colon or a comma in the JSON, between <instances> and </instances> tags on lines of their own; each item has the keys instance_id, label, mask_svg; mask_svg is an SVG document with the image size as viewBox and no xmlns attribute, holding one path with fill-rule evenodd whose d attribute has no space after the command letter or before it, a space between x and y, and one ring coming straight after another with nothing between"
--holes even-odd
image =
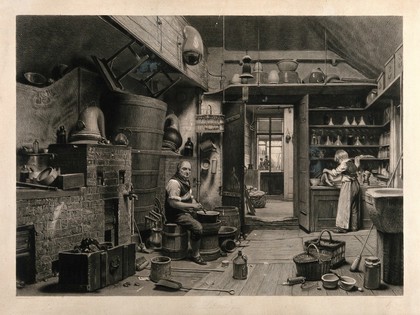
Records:
<instances>
[{"instance_id":1,"label":"brick furnace along the left wall with stepped taller block","mask_svg":"<svg viewBox=\"0 0 420 315\"><path fill-rule=\"evenodd\" d=\"M60 251L73 249L87 237L105 241L107 200L118 204L118 243L131 242L131 209L124 197L131 185L131 148L86 144L50 148L62 174L82 172L87 186L69 191L18 190L17 225L35 228L37 281L53 275ZM103 176L100 182L98 172Z\"/></svg>"}]
</instances>

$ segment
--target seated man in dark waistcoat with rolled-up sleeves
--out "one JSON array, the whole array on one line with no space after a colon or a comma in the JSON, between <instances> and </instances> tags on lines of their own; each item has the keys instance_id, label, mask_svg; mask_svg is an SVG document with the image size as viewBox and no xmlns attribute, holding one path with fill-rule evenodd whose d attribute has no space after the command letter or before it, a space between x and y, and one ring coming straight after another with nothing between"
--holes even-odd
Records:
<instances>
[{"instance_id":1,"label":"seated man in dark waistcoat with rolled-up sleeves","mask_svg":"<svg viewBox=\"0 0 420 315\"><path fill-rule=\"evenodd\" d=\"M189 177L191 163L178 163L176 174L166 185L165 215L168 223L176 223L190 231L191 260L200 265L207 263L200 256L200 241L203 227L194 217L195 211L203 209L192 196Z\"/></svg>"}]
</instances>

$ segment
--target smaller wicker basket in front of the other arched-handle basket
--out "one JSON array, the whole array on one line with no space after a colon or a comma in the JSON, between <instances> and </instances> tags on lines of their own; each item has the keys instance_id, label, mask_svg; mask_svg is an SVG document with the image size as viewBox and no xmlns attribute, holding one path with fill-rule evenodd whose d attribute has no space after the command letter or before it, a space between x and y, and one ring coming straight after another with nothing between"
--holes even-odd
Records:
<instances>
[{"instance_id":1,"label":"smaller wicker basket in front of the other arched-handle basket","mask_svg":"<svg viewBox=\"0 0 420 315\"><path fill-rule=\"evenodd\" d=\"M309 250L314 247L316 254ZM320 253L315 244L309 244L306 252L293 257L296 264L298 276L303 276L306 280L321 280L322 275L330 271L331 254Z\"/></svg>"}]
</instances>

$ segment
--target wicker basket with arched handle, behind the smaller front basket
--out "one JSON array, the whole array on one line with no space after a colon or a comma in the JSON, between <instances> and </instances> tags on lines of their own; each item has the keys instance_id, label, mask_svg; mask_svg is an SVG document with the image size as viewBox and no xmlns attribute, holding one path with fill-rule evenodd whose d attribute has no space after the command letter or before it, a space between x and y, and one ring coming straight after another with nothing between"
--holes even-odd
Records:
<instances>
[{"instance_id":1,"label":"wicker basket with arched handle, behind the smaller front basket","mask_svg":"<svg viewBox=\"0 0 420 315\"><path fill-rule=\"evenodd\" d=\"M327 232L330 235L329 239L322 238L322 234ZM306 250L309 244L315 244L321 253L330 253L331 268L337 268L346 261L346 242L333 240L331 232L328 230L322 230L318 238L308 240L304 243L304 249Z\"/></svg>"}]
</instances>

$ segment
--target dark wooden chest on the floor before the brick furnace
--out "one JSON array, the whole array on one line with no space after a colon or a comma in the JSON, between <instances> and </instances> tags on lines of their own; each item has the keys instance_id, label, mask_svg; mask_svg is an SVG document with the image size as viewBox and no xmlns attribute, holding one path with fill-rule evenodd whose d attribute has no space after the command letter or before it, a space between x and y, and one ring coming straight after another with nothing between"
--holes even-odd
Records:
<instances>
[{"instance_id":1,"label":"dark wooden chest on the floor before the brick furnace","mask_svg":"<svg viewBox=\"0 0 420 315\"><path fill-rule=\"evenodd\" d=\"M135 244L92 253L59 253L59 284L66 290L91 292L135 273Z\"/></svg>"}]
</instances>

